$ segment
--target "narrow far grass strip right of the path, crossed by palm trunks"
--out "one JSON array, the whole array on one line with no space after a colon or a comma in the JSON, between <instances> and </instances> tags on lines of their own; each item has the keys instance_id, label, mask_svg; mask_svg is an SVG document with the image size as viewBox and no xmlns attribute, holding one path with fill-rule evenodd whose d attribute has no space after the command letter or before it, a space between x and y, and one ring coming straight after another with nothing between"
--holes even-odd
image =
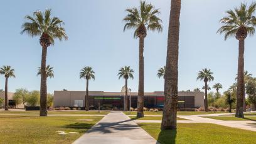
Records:
<instances>
[{"instance_id":1,"label":"narrow far grass strip right of the path, crossed by palm trunks","mask_svg":"<svg viewBox=\"0 0 256 144\"><path fill-rule=\"evenodd\" d=\"M129 111L124 112L125 115L137 115L137 111L131 111L131 114ZM206 115L206 114L213 114L213 113L227 113L223 111L178 111L178 115ZM163 115L163 111L158 112L152 112L152 111L144 111L144 115Z\"/></svg>"}]
</instances>

